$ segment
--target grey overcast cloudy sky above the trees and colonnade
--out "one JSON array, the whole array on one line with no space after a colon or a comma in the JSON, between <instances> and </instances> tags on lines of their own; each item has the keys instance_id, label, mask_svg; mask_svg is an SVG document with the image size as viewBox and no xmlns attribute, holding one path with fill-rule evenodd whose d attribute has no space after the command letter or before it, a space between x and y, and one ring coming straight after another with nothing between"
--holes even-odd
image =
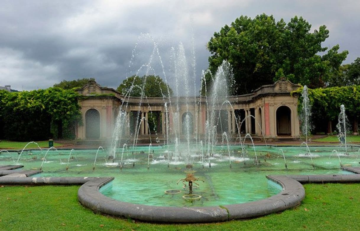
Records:
<instances>
[{"instance_id":1,"label":"grey overcast cloudy sky above the trees and colonnade","mask_svg":"<svg viewBox=\"0 0 360 231\"><path fill-rule=\"evenodd\" d=\"M210 55L206 43L240 15L253 18L266 13L285 22L302 16L312 31L327 26L330 33L323 46L339 44L340 50L348 50L345 63L360 57L360 1L0 0L0 4L0 86L20 91L90 77L117 88L150 61L152 69L143 67L139 74L148 71L164 78L165 73L174 88L171 47L178 52L182 42L191 79L192 38L198 91ZM154 42L164 69L157 50L152 55Z\"/></svg>"}]
</instances>

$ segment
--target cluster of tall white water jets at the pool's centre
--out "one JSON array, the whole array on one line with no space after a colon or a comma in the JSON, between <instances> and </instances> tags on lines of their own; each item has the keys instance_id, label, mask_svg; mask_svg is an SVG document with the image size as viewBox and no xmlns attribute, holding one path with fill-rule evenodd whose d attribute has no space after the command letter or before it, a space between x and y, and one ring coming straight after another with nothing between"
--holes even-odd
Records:
<instances>
[{"instance_id":1,"label":"cluster of tall white water jets at the pool's centre","mask_svg":"<svg viewBox=\"0 0 360 231\"><path fill-rule=\"evenodd\" d=\"M153 38L151 36L143 36L148 37L153 41ZM155 59L157 55L161 63L162 72L164 75L163 78L165 78L165 83L168 84L157 43L153 41L153 44L153 52L150 55L148 62L143 64L135 75L138 75L140 70L142 72L146 72L145 76L151 71L153 71L154 75L156 75L153 67L157 65L153 63L153 59ZM129 64L129 69L134 63L134 54L136 54L136 49L139 50L139 45L141 45L141 43L139 43L139 41L136 42L135 48L132 52L133 56ZM232 138L232 135L230 134L234 133L234 127L237 126L237 130L240 130L238 123L235 123L235 125L231 125L231 123L234 123L234 120L237 121L236 118L233 118L235 116L235 111L228 98L230 89L233 89L233 86L230 88L230 85L234 83L232 68L228 62L224 61L219 66L217 72L214 75L208 70L203 71L201 90L205 91L206 96L205 98L203 98L204 101L202 102L202 98L198 98L195 96L197 93L195 84L196 60L194 53L194 45L192 50L192 60L186 60L185 49L181 43L179 43L179 45L176 47L172 47L170 53L170 68L168 71L169 73L171 73L171 83L175 83L175 86L173 86L175 90L174 97L170 96L169 89L167 95L165 94L165 91L162 92L162 90L160 89L163 101L163 108L161 110L163 110L162 116L164 116L164 118L162 119L162 129L165 130L163 134L164 144L167 144L167 153L168 144L175 144L175 152L171 153L171 156L173 156L174 154L174 158L172 158L172 160L177 162L187 162L190 165L194 161L192 158L192 153L197 152L199 150L198 145L201 144L201 146L203 147L201 148L202 162L204 163L204 157L209 157L216 154L216 144L218 143L218 139L219 137L221 137L221 135L225 133L226 143L229 143L230 139ZM190 63L192 63L192 71L188 71L188 66ZM205 79L205 76L207 77L207 79ZM113 158L113 161L115 158L117 158L117 154L121 154L121 157L123 156L123 153L120 153L121 151L118 151L118 149L120 149L121 140L124 143L127 143L130 142L130 140L128 140L129 138L133 139L131 140L131 143L132 148L134 149L134 147L136 147L138 144L139 138L144 138L141 136L139 137L140 131L141 135L149 135L149 137L147 138L150 138L150 145L152 145L150 127L148 125L150 120L148 121L148 116L147 114L145 114L152 112L152 108L149 106L149 98L144 93L144 86L146 84L146 81L147 78L145 77L145 81L141 86L138 86L134 82L132 82L130 88L122 92L123 100L121 101L121 106L118 110L115 131L113 133L113 142L111 145L110 155ZM192 89L191 86L192 82L194 83L194 89ZM139 91L140 89L141 92L139 103L136 106L136 108L139 109L137 109L137 113L130 113L130 109L133 111L135 110L135 108L133 107L128 107L129 100L132 100L130 99L130 96L132 95L132 92L135 91L135 89L136 91ZM173 102L171 102L171 100ZM201 103L203 103L203 105L201 105ZM203 106L204 110L206 109L206 115L205 113L199 113L199 111L201 111L199 110L201 106ZM231 110L229 110L229 106ZM144 108L146 108L145 111ZM133 122L131 126L130 121ZM204 127L200 124L200 121L203 121ZM200 136L199 134L201 134L202 132L199 131L201 131L202 129L205 130L205 133L203 136ZM134 135L134 137L129 137L129 135L126 135L129 133L130 135ZM156 131L154 133L157 134ZM195 145L194 147L190 145L191 143L196 144L196 149ZM242 140L240 137L240 144L241 143ZM229 150L228 156L231 166L231 156ZM150 157L151 155L148 153L148 165L151 161ZM120 156L118 158L120 159ZM256 153L255 158L257 158ZM168 159L168 162L170 161L171 158L170 160ZM135 154L133 166L134 164ZM256 161L256 164L258 164L258 161ZM122 161L120 165L122 167Z\"/></svg>"}]
</instances>

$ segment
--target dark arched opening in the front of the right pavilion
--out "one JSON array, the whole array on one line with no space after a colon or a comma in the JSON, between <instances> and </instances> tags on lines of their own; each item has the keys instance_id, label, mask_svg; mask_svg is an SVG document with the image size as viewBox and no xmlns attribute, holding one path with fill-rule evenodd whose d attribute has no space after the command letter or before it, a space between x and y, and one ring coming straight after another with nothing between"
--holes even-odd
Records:
<instances>
[{"instance_id":1,"label":"dark arched opening in the front of the right pavilion","mask_svg":"<svg viewBox=\"0 0 360 231\"><path fill-rule=\"evenodd\" d=\"M280 106L276 110L276 134L291 135L291 110L287 106Z\"/></svg>"}]
</instances>

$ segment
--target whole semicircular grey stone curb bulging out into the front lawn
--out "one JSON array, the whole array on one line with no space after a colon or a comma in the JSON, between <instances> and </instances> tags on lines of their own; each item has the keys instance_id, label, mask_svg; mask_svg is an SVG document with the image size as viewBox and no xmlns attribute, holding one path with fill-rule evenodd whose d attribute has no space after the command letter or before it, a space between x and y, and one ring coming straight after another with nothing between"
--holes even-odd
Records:
<instances>
[{"instance_id":1,"label":"whole semicircular grey stone curb bulging out into the front lawn","mask_svg":"<svg viewBox=\"0 0 360 231\"><path fill-rule=\"evenodd\" d=\"M95 212L130 217L150 222L214 222L263 216L284 211L301 203L305 197L302 185L286 176L267 176L282 185L281 193L255 202L222 205L219 207L163 207L131 204L106 197L99 189L105 183L89 181L78 190L81 204Z\"/></svg>"}]
</instances>

